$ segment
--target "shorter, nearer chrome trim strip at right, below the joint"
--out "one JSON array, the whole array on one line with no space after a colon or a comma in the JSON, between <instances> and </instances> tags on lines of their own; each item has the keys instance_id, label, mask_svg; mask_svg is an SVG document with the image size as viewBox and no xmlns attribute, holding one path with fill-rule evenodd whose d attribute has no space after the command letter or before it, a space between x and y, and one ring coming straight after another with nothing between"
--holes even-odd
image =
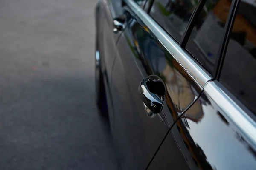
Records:
<instances>
[{"instance_id":1,"label":"shorter, nearer chrome trim strip at right, below the joint","mask_svg":"<svg viewBox=\"0 0 256 170\"><path fill-rule=\"evenodd\" d=\"M239 128L247 141L256 148L256 122L242 110L221 88L213 82L207 82L204 92L213 106L223 111Z\"/></svg>"}]
</instances>

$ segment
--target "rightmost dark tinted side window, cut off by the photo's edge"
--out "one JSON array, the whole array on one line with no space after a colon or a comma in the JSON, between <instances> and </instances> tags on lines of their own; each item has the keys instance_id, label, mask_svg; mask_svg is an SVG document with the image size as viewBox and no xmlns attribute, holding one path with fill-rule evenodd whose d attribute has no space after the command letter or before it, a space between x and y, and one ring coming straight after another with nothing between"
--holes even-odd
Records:
<instances>
[{"instance_id":1,"label":"rightmost dark tinted side window, cut off by the photo's edge","mask_svg":"<svg viewBox=\"0 0 256 170\"><path fill-rule=\"evenodd\" d=\"M256 3L241 1L221 71L220 81L256 114Z\"/></svg>"}]
</instances>

